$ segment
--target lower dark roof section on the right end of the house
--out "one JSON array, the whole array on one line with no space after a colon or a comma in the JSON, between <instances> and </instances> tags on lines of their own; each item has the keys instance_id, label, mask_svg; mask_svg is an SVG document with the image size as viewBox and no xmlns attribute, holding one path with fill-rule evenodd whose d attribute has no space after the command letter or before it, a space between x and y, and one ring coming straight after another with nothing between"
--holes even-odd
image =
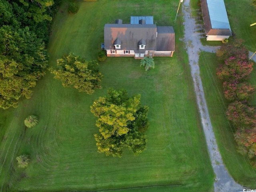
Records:
<instances>
[{"instance_id":1,"label":"lower dark roof section on the right end of the house","mask_svg":"<svg viewBox=\"0 0 256 192\"><path fill-rule=\"evenodd\" d=\"M157 51L175 50L175 33L172 26L158 26L156 38Z\"/></svg>"}]
</instances>

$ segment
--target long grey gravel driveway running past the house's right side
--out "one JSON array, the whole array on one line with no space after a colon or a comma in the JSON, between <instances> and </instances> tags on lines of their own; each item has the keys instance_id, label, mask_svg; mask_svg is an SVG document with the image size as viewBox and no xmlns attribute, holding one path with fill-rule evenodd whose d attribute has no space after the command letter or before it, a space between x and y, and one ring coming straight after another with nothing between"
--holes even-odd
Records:
<instances>
[{"instance_id":1,"label":"long grey gravel driveway running past the house's right side","mask_svg":"<svg viewBox=\"0 0 256 192\"><path fill-rule=\"evenodd\" d=\"M204 135L210 159L214 173L216 175L214 182L214 192L240 192L243 191L243 187L234 182L233 178L227 172L225 165L223 164L220 151L216 144L216 138L212 130L212 124L209 117L206 100L204 98L204 90L202 87L202 81L200 78L200 70L198 66L199 52L200 50L208 52L216 52L219 47L202 46L200 42L200 33L196 32L203 26L197 25L195 18L192 18L189 6L190 0L184 0L182 12L184 14L184 26L185 35L183 41L186 43L186 50L188 53L189 64L191 67L191 74L194 81L194 89L196 93L196 100L201 115L202 126L204 129Z\"/></svg>"}]
</instances>

